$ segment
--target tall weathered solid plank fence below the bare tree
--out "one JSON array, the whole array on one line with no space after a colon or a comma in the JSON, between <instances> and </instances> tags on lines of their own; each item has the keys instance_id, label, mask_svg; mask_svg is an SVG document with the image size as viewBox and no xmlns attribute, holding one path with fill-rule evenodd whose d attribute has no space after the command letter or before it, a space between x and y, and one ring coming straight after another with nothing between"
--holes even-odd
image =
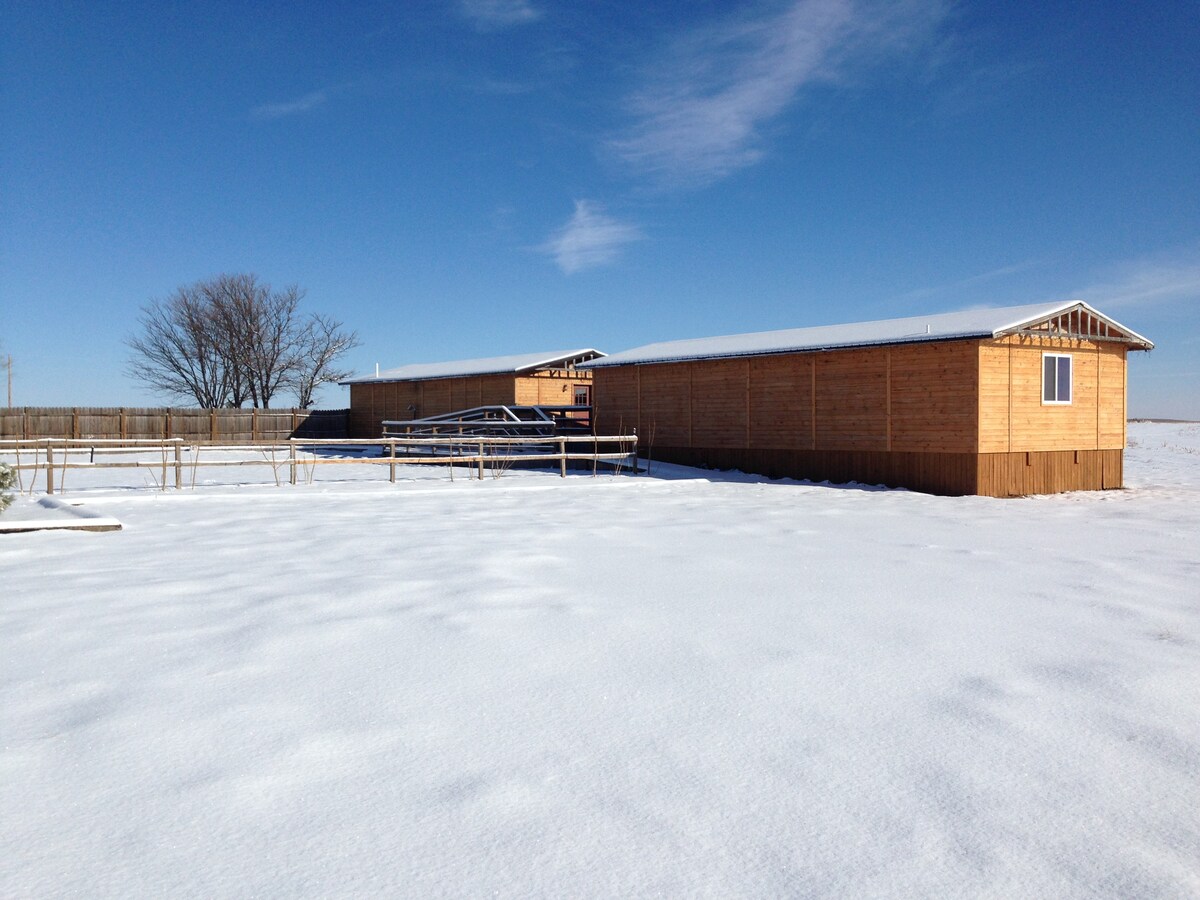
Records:
<instances>
[{"instance_id":1,"label":"tall weathered solid plank fence below the bare tree","mask_svg":"<svg viewBox=\"0 0 1200 900\"><path fill-rule=\"evenodd\" d=\"M0 407L0 439L263 443L347 437L349 409Z\"/></svg>"}]
</instances>

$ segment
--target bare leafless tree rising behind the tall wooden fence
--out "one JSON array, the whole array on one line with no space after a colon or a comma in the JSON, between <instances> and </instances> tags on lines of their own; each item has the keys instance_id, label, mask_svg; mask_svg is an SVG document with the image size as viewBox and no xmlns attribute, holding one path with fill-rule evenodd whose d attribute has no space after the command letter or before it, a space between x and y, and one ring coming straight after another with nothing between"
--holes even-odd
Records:
<instances>
[{"instance_id":1,"label":"bare leafless tree rising behind the tall wooden fence","mask_svg":"<svg viewBox=\"0 0 1200 900\"><path fill-rule=\"evenodd\" d=\"M179 288L143 310L143 334L127 342L130 373L202 407L268 408L281 391L308 407L318 386L346 377L336 361L358 336L334 319L301 314L302 299L300 288L271 290L254 275Z\"/></svg>"}]
</instances>

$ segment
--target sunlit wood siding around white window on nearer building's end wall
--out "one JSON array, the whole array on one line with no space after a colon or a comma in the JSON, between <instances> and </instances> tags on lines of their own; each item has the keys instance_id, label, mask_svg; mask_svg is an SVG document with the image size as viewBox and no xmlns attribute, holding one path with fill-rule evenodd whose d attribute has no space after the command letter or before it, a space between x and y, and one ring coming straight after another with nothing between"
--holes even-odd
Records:
<instances>
[{"instance_id":1,"label":"sunlit wood siding around white window on nearer building's end wall","mask_svg":"<svg viewBox=\"0 0 1200 900\"><path fill-rule=\"evenodd\" d=\"M1069 404L1042 402L1042 358L1072 358ZM979 451L1120 450L1124 446L1126 347L1012 336L979 344Z\"/></svg>"}]
</instances>

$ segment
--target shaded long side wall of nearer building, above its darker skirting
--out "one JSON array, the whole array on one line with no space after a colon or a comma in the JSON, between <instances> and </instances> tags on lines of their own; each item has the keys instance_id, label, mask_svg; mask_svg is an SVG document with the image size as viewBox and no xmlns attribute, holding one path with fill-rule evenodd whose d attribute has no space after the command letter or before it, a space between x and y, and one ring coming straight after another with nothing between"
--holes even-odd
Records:
<instances>
[{"instance_id":1,"label":"shaded long side wall of nearer building, above its darker skirting","mask_svg":"<svg viewBox=\"0 0 1200 900\"><path fill-rule=\"evenodd\" d=\"M977 366L955 341L600 367L596 418L662 446L973 452Z\"/></svg>"}]
</instances>

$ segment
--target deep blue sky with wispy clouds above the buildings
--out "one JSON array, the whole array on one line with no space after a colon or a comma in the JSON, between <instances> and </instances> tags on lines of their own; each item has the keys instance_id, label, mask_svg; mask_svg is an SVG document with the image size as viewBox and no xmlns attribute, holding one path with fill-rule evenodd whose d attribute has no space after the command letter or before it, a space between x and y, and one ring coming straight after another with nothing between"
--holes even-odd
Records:
<instances>
[{"instance_id":1,"label":"deep blue sky with wispy clouds above the buildings","mask_svg":"<svg viewBox=\"0 0 1200 900\"><path fill-rule=\"evenodd\" d=\"M1081 298L1200 419L1194 2L0 10L14 404L163 402L139 308L251 271L360 372Z\"/></svg>"}]
</instances>

